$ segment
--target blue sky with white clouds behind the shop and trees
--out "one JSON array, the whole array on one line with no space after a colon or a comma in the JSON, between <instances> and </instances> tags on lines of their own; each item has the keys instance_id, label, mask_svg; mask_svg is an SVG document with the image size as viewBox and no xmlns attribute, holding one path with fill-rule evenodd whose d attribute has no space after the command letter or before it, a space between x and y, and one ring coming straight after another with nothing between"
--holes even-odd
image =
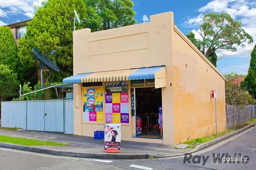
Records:
<instances>
[{"instance_id":1,"label":"blue sky with white clouds behind the shop and trees","mask_svg":"<svg viewBox=\"0 0 256 170\"><path fill-rule=\"evenodd\" d=\"M0 25L27 20L34 15L35 5L42 0L0 0ZM193 30L197 35L200 21L208 12L227 12L235 20L241 21L246 32L256 41L256 1L254 0L133 0L136 20L144 22L150 15L166 11L174 12L176 26L187 34ZM143 21L144 16L144 21ZM199 37L198 37L199 38ZM223 74L236 72L247 74L250 53L255 43L245 44L237 52L223 52L223 59L217 61L217 68Z\"/></svg>"}]
</instances>

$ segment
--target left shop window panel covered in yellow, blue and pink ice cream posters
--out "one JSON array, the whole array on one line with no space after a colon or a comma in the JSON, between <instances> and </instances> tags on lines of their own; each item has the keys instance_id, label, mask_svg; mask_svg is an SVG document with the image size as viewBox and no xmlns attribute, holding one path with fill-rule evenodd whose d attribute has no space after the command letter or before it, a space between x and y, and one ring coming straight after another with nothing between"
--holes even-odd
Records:
<instances>
[{"instance_id":1,"label":"left shop window panel covered in yellow, blue and pink ice cream posters","mask_svg":"<svg viewBox=\"0 0 256 170\"><path fill-rule=\"evenodd\" d=\"M83 87L83 122L103 122L103 87Z\"/></svg>"}]
</instances>

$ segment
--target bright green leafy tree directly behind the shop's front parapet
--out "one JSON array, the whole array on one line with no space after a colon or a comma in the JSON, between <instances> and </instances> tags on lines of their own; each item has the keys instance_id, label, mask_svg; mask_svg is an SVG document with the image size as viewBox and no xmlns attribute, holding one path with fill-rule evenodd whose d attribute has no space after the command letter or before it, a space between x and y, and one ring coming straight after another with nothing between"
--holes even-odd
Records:
<instances>
[{"instance_id":1,"label":"bright green leafy tree directly behind the shop's front parapet","mask_svg":"<svg viewBox=\"0 0 256 170\"><path fill-rule=\"evenodd\" d=\"M102 18L102 29L129 26L136 23L133 18L133 2L131 0L84 0L88 8L93 8ZM89 27L90 28L90 27Z\"/></svg>"}]
</instances>

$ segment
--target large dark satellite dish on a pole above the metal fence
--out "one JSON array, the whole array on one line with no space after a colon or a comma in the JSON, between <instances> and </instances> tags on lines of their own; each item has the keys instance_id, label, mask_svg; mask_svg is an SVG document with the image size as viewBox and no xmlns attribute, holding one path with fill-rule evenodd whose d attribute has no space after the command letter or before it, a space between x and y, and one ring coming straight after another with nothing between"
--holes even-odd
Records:
<instances>
[{"instance_id":1,"label":"large dark satellite dish on a pole above the metal fence","mask_svg":"<svg viewBox=\"0 0 256 170\"><path fill-rule=\"evenodd\" d=\"M43 83L42 83L42 66L45 66L47 68L51 68L52 70L59 72L59 67L52 60L47 58L47 55L49 55L49 54L54 55L54 53L56 51L53 49L53 51L51 53L45 54L45 55L41 55L41 53L35 48L32 48L32 51L35 55L35 58L40 62L41 87L42 87L43 86Z\"/></svg>"}]
</instances>

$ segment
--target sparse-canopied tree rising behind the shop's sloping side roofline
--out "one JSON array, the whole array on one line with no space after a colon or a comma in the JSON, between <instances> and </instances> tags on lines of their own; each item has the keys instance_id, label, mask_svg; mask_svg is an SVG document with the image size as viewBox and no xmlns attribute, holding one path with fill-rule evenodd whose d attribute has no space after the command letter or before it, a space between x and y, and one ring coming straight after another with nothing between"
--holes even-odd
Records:
<instances>
[{"instance_id":1,"label":"sparse-canopied tree rising behind the shop's sloping side roofline","mask_svg":"<svg viewBox=\"0 0 256 170\"><path fill-rule=\"evenodd\" d=\"M216 65L216 52L237 51L237 47L244 47L244 43L252 43L253 38L241 27L241 22L234 21L227 13L205 14L202 24L198 30L200 40L196 41L200 45L200 51L208 58L212 64ZM193 39L192 42L195 42ZM215 54L214 54L215 53ZM222 58L219 56L219 58Z\"/></svg>"}]
</instances>

